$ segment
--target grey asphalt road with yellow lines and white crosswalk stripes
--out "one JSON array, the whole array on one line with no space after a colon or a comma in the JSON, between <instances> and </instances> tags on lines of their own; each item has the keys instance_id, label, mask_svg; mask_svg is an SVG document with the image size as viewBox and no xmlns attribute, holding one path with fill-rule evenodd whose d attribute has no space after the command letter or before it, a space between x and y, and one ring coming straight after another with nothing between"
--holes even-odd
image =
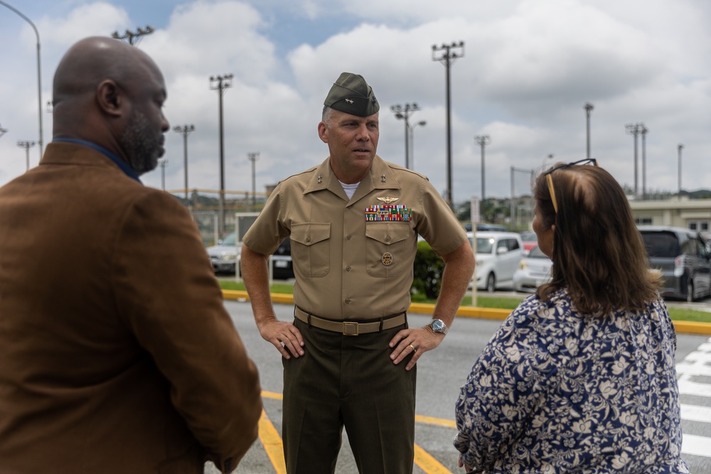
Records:
<instances>
[{"instance_id":1,"label":"grey asphalt road with yellow lines and white crosswalk stripes","mask_svg":"<svg viewBox=\"0 0 711 474\"><path fill-rule=\"evenodd\" d=\"M279 437L282 418L281 355L261 338L249 303L225 301L225 307L260 370L264 391L260 438L235 472L285 473ZM289 321L293 318L293 306L277 304L275 309L279 319ZM410 314L408 318L410 325L417 326L427 323L431 316ZM417 363L415 474L464 473L456 465L457 453L451 444L456 434L454 402L471 365L499 325L501 321L457 318L442 345L427 352ZM677 362L684 431L683 457L691 473L711 474L711 338L707 335L678 335ZM344 432L336 474L357 472ZM205 473L217 474L218 471L208 463Z\"/></svg>"}]
</instances>

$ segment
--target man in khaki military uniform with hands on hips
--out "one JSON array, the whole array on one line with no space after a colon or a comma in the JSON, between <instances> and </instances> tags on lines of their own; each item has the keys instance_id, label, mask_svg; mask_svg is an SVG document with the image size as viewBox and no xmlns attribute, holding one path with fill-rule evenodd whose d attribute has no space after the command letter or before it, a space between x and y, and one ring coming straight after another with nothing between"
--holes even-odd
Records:
<instances>
[{"instance_id":1,"label":"man in khaki military uniform with hands on hips","mask_svg":"<svg viewBox=\"0 0 711 474\"><path fill-rule=\"evenodd\" d=\"M284 357L287 471L333 473L345 426L360 473L412 473L412 369L447 334L474 256L427 178L375 154L379 106L363 77L341 74L324 105L330 156L277 185L242 246L257 326ZM413 329L405 311L418 234L446 266L432 323ZM289 235L293 323L277 321L267 267Z\"/></svg>"}]
</instances>

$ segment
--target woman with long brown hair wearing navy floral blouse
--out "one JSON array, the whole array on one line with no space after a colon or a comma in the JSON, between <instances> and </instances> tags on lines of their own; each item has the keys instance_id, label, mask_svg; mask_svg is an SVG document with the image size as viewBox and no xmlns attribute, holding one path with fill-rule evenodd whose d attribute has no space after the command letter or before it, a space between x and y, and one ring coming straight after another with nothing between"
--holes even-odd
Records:
<instances>
[{"instance_id":1,"label":"woman with long brown hair wearing navy floral blouse","mask_svg":"<svg viewBox=\"0 0 711 474\"><path fill-rule=\"evenodd\" d=\"M620 185L594 159L536 178L552 280L508 316L456 403L471 473L688 473L676 336Z\"/></svg>"}]
</instances>

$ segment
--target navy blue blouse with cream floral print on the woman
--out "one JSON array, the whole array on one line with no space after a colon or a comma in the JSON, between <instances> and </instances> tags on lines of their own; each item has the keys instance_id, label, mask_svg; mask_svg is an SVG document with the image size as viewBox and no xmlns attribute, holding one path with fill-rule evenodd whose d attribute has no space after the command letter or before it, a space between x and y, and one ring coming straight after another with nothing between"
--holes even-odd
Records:
<instances>
[{"instance_id":1,"label":"navy blue blouse with cream floral print on the woman","mask_svg":"<svg viewBox=\"0 0 711 474\"><path fill-rule=\"evenodd\" d=\"M675 350L661 300L586 318L529 296L461 387L454 446L483 473L688 473Z\"/></svg>"}]
</instances>

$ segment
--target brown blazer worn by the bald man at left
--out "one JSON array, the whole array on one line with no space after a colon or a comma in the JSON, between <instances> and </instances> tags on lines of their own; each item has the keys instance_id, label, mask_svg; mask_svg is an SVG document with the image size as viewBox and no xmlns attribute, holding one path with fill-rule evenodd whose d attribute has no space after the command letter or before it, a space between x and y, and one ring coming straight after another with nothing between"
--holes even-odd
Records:
<instances>
[{"instance_id":1,"label":"brown blazer worn by the bald man at left","mask_svg":"<svg viewBox=\"0 0 711 474\"><path fill-rule=\"evenodd\" d=\"M0 188L0 473L231 470L261 409L175 198L66 143Z\"/></svg>"}]
</instances>

